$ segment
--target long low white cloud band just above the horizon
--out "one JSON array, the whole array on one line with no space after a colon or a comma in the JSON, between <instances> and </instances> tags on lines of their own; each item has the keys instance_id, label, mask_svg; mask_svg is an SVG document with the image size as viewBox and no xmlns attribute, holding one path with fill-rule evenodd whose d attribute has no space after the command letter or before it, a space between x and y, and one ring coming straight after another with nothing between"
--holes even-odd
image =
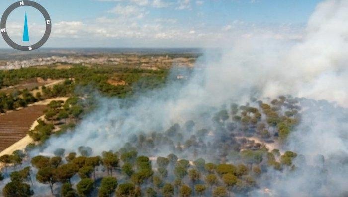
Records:
<instances>
[{"instance_id":1,"label":"long low white cloud band just above the horizon","mask_svg":"<svg viewBox=\"0 0 348 197\"><path fill-rule=\"evenodd\" d=\"M126 16L133 14L129 10L124 12L118 13ZM255 25L234 21L226 26L186 26L175 19L150 20L144 17L139 20L136 17L124 17L125 15L100 17L90 21L88 25L81 21L58 22L52 37L82 39L88 35L88 38L101 43L107 41L107 46L112 46L111 43L121 39L125 43L136 43L137 46L144 47L228 47L234 41L245 38L298 41L302 39L303 33L303 27L291 24Z\"/></svg>"}]
</instances>

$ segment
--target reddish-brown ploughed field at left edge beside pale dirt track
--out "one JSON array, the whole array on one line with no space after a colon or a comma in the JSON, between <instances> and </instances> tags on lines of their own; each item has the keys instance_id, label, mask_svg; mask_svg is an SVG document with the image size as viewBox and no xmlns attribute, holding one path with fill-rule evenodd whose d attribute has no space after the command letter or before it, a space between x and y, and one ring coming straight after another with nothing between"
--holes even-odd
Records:
<instances>
[{"instance_id":1,"label":"reddish-brown ploughed field at left edge beside pale dirt track","mask_svg":"<svg viewBox=\"0 0 348 197\"><path fill-rule=\"evenodd\" d=\"M34 105L0 115L0 151L25 137L45 108L46 105Z\"/></svg>"}]
</instances>

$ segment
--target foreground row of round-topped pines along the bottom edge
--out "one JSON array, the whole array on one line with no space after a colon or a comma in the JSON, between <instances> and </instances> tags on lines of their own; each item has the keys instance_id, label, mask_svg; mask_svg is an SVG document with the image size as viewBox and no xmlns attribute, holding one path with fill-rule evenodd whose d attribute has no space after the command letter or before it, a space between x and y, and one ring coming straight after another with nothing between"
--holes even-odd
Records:
<instances>
[{"instance_id":1,"label":"foreground row of round-topped pines along the bottom edge","mask_svg":"<svg viewBox=\"0 0 348 197\"><path fill-rule=\"evenodd\" d=\"M54 188L59 187L62 197L109 197L113 194L117 197L226 197L234 193L246 194L257 187L256 179L265 171L257 163L273 155L269 152L256 159L250 152L241 152L251 164L257 164L250 168L242 163L209 163L202 158L189 161L173 153L152 162L147 156L138 156L132 147L121 148L118 152L105 151L101 156L90 156L91 148L80 147L79 154L81 156L75 152L65 154L64 149L57 149L54 157L33 157L31 165L38 170L36 181L47 184L52 195L56 195ZM286 152L281 155L281 165L291 165L295 157L295 153ZM10 158L2 156L0 161L8 165L14 162ZM273 160L268 158L268 162ZM26 167L10 174L11 182L2 190L5 197L34 194L30 188L30 183L33 184L30 169ZM71 179L76 175L80 181L74 186Z\"/></svg>"}]
</instances>

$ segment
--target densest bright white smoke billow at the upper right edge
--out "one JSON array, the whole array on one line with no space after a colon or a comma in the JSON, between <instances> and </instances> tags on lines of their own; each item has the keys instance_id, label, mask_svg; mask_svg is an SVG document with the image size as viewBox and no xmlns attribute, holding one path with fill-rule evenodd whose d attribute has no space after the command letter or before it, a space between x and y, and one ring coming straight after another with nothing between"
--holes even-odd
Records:
<instances>
[{"instance_id":1,"label":"densest bright white smoke billow at the upper right edge","mask_svg":"<svg viewBox=\"0 0 348 197\"><path fill-rule=\"evenodd\" d=\"M292 73L302 81L300 96L348 106L347 9L345 0L319 4L309 19L304 42L289 53Z\"/></svg>"}]
</instances>

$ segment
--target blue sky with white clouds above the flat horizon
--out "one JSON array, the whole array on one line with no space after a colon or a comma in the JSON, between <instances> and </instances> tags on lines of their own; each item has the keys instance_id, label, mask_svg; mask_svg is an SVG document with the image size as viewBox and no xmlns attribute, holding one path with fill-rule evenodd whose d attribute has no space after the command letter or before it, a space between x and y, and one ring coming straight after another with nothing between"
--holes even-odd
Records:
<instances>
[{"instance_id":1,"label":"blue sky with white clouds above the flat horizon","mask_svg":"<svg viewBox=\"0 0 348 197\"><path fill-rule=\"evenodd\" d=\"M1 0L0 13L17 0ZM224 39L262 34L300 39L321 0L36 0L51 15L46 47L215 47ZM7 21L20 40L28 11L32 42L42 17L18 8ZM0 39L0 47L7 47Z\"/></svg>"}]
</instances>

